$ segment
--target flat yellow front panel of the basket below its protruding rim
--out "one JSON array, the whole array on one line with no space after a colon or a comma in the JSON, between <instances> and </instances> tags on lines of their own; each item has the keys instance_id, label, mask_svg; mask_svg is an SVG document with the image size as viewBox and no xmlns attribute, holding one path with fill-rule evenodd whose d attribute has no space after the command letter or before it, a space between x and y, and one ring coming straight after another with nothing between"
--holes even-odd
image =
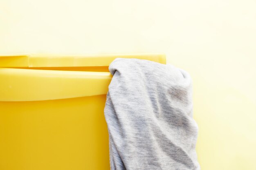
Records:
<instances>
[{"instance_id":1,"label":"flat yellow front panel of the basket below its protruding rim","mask_svg":"<svg viewBox=\"0 0 256 170\"><path fill-rule=\"evenodd\" d=\"M108 170L105 101L0 102L0 169Z\"/></svg>"}]
</instances>

